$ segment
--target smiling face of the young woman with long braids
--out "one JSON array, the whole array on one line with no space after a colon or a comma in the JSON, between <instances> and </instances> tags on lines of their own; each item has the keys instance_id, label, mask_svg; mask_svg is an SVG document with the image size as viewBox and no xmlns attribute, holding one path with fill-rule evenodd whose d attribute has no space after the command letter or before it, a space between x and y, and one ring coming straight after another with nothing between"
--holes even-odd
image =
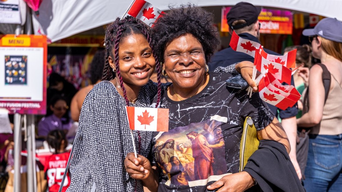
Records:
<instances>
[{"instance_id":1,"label":"smiling face of the young woman with long braids","mask_svg":"<svg viewBox=\"0 0 342 192\"><path fill-rule=\"evenodd\" d=\"M108 60L110 67L116 69L114 58ZM119 68L126 85L141 87L147 84L155 66L156 60L144 35L131 34L120 40Z\"/></svg>"}]
</instances>

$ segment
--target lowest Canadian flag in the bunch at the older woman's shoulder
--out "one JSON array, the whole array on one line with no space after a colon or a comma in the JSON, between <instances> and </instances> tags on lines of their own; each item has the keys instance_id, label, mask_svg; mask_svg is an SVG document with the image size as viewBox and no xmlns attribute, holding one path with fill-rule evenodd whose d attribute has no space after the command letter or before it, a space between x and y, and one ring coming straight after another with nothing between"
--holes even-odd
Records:
<instances>
[{"instance_id":1,"label":"lowest Canadian flag in the bunch at the older woman's shoulder","mask_svg":"<svg viewBox=\"0 0 342 192\"><path fill-rule=\"evenodd\" d=\"M274 105L282 110L292 107L299 99L300 95L285 93L274 87L268 78L269 73L260 80L259 96L266 103ZM294 89L295 90L295 89Z\"/></svg>"}]
</instances>

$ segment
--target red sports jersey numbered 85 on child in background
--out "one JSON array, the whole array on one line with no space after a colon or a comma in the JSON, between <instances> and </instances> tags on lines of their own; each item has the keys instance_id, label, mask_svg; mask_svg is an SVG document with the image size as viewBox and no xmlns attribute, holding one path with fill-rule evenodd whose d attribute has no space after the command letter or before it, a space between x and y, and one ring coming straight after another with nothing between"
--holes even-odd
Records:
<instances>
[{"instance_id":1,"label":"red sports jersey numbered 85 on child in background","mask_svg":"<svg viewBox=\"0 0 342 192\"><path fill-rule=\"evenodd\" d=\"M60 189L69 156L70 152L64 152L60 154L53 154L46 159L44 171L47 175L49 192L58 192ZM62 191L66 191L69 185L70 176L68 172L67 177L64 180Z\"/></svg>"}]
</instances>

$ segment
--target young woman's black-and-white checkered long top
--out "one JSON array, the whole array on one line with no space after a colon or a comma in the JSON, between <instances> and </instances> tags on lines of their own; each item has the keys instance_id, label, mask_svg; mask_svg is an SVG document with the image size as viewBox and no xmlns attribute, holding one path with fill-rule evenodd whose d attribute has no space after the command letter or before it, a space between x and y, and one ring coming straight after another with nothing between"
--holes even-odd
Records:
<instances>
[{"instance_id":1,"label":"young woman's black-and-white checkered long top","mask_svg":"<svg viewBox=\"0 0 342 192\"><path fill-rule=\"evenodd\" d=\"M141 88L136 103L148 107L157 93L150 81ZM126 103L110 82L94 86L83 102L75 149L71 158L71 184L68 192L137 191L143 192L140 180L132 179L124 169L127 153L133 152ZM137 152L148 157L153 132L133 131Z\"/></svg>"}]
</instances>

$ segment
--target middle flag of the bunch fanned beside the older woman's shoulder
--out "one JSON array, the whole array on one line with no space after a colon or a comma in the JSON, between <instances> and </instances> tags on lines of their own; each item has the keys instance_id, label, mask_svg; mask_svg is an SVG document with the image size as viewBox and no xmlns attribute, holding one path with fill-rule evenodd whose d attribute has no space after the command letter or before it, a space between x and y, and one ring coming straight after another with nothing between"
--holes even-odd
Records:
<instances>
[{"instance_id":1,"label":"middle flag of the bunch fanned beside the older woman's shoulder","mask_svg":"<svg viewBox=\"0 0 342 192\"><path fill-rule=\"evenodd\" d=\"M268 73L272 73L280 82L291 84L292 71L280 63L268 61L260 55L259 51L255 53L254 65L261 73L268 70Z\"/></svg>"}]
</instances>

